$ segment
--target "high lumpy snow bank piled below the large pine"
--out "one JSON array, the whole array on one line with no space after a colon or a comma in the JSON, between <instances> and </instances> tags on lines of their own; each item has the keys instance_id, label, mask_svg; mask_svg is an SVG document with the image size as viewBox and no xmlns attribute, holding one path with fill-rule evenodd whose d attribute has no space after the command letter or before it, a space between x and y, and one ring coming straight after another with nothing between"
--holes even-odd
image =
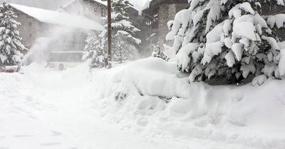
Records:
<instances>
[{"instance_id":1,"label":"high lumpy snow bank piled below the large pine","mask_svg":"<svg viewBox=\"0 0 285 149\"><path fill-rule=\"evenodd\" d=\"M285 148L285 81L263 86L188 83L176 63L160 58L93 71L95 107L140 131L190 136L241 148ZM115 93L126 95L115 101Z\"/></svg>"}]
</instances>

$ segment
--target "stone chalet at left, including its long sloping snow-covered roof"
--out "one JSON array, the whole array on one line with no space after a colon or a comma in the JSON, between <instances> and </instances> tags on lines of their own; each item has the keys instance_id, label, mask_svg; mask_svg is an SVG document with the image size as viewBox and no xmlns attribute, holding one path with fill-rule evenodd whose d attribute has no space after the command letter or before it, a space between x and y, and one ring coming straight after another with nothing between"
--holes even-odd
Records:
<instances>
[{"instance_id":1,"label":"stone chalet at left, including its long sloping snow-covered roof","mask_svg":"<svg viewBox=\"0 0 285 149\"><path fill-rule=\"evenodd\" d=\"M22 43L31 49L38 38L49 38L48 51L83 51L88 32L103 30L98 22L82 16L37 9L18 4L9 4L14 8L16 21ZM61 27L61 28L60 28ZM60 28L60 29L58 29ZM58 30L55 30L58 29ZM61 29L66 29L67 34L60 34ZM45 46L45 45L42 45Z\"/></svg>"}]
</instances>

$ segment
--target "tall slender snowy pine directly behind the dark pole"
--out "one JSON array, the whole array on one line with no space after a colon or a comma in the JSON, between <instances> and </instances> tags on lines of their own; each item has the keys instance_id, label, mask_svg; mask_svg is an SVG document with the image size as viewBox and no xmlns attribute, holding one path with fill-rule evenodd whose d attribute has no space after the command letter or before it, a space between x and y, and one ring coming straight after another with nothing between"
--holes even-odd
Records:
<instances>
[{"instance_id":1,"label":"tall slender snowy pine directly behind the dark pole","mask_svg":"<svg viewBox=\"0 0 285 149\"><path fill-rule=\"evenodd\" d=\"M112 6L112 51L113 60L122 61L127 60L133 56L133 53L140 48L140 39L135 38L139 29L135 28L130 22L128 16L128 1L117 0L111 2ZM107 23L107 17L103 18ZM108 25L105 25L105 30L100 36L103 37L103 44L107 46Z\"/></svg>"}]
</instances>

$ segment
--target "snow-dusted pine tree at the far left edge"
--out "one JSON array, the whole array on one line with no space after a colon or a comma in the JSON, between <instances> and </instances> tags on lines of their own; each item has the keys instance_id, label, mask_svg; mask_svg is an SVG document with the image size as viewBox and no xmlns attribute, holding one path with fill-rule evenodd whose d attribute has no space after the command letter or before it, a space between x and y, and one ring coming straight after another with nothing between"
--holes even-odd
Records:
<instances>
[{"instance_id":1,"label":"snow-dusted pine tree at the far left edge","mask_svg":"<svg viewBox=\"0 0 285 149\"><path fill-rule=\"evenodd\" d=\"M19 65L22 52L27 50L16 30L21 25L14 20L16 17L14 9L4 1L0 5L0 66Z\"/></svg>"}]
</instances>

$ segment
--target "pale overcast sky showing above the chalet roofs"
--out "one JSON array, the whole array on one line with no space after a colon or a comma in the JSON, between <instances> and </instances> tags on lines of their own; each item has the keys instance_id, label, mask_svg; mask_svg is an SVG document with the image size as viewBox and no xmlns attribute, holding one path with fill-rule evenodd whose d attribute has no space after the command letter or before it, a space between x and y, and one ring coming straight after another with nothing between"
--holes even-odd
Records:
<instances>
[{"instance_id":1,"label":"pale overcast sky showing above the chalet roofs","mask_svg":"<svg viewBox=\"0 0 285 149\"><path fill-rule=\"evenodd\" d=\"M4 0L0 0L1 2ZM21 4L26 6L33 6L38 7L42 9L52 9L56 10L59 8L59 6L62 6L68 1L72 0L6 0L9 3L14 4ZM145 1L147 0L129 0L137 9L140 9L145 4Z\"/></svg>"}]
</instances>

